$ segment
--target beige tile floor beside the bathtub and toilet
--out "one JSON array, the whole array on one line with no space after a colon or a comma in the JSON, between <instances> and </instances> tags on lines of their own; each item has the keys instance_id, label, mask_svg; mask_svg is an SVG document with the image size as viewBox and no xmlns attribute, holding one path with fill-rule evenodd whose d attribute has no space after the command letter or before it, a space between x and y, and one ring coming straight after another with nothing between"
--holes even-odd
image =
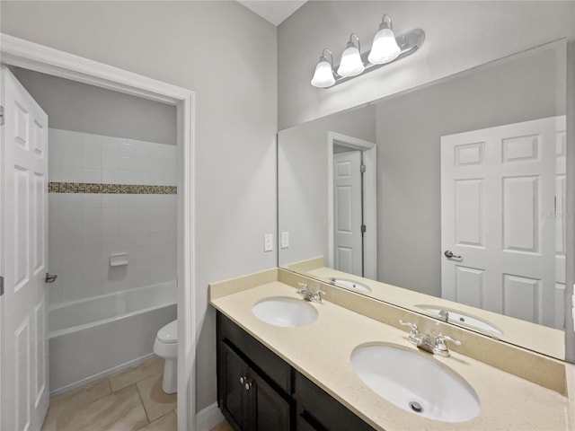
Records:
<instances>
[{"instance_id":1,"label":"beige tile floor beside the bathtub and toilet","mask_svg":"<svg viewBox=\"0 0 575 431\"><path fill-rule=\"evenodd\" d=\"M176 431L176 394L162 391L164 359L50 400L42 431ZM224 421L210 431L233 431Z\"/></svg>"}]
</instances>

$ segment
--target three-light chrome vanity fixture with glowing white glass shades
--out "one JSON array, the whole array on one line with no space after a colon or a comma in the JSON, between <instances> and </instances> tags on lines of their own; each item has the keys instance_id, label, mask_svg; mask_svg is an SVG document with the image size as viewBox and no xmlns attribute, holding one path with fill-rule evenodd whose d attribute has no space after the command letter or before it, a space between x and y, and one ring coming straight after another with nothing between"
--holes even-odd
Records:
<instances>
[{"instance_id":1,"label":"three-light chrome vanity fixture with glowing white glass shades","mask_svg":"<svg viewBox=\"0 0 575 431\"><path fill-rule=\"evenodd\" d=\"M357 46L354 40L357 42ZM351 33L348 46L341 55L341 63L334 67L332 51L327 48L323 49L322 57L315 66L312 85L317 88L329 88L349 81L355 76L376 70L381 66L411 55L420 48L423 40L425 40L425 33L420 29L395 37L392 20L385 13L374 37L371 50L362 54L358 35ZM326 53L330 55L329 61Z\"/></svg>"}]
</instances>

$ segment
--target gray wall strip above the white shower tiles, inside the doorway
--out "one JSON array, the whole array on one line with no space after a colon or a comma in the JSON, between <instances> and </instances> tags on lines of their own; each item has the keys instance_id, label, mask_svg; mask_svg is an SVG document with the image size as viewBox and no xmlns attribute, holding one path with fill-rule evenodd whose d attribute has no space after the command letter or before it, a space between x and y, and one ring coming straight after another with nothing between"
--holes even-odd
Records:
<instances>
[{"instance_id":1,"label":"gray wall strip above the white shower tiles, inside the doorway","mask_svg":"<svg viewBox=\"0 0 575 431\"><path fill-rule=\"evenodd\" d=\"M176 107L12 67L50 128L176 145Z\"/></svg>"}]
</instances>

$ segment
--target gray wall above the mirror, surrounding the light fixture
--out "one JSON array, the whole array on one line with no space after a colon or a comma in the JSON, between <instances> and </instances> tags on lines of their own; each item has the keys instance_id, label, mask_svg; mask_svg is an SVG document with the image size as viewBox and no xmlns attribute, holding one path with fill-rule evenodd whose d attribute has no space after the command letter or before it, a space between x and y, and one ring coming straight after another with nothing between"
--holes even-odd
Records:
<instances>
[{"instance_id":1,"label":"gray wall above the mirror, surrounding the light fixture","mask_svg":"<svg viewBox=\"0 0 575 431\"><path fill-rule=\"evenodd\" d=\"M321 90L312 87L323 48L337 64L349 33L370 48L384 13L394 31L425 31L411 57ZM311 1L278 27L279 128L435 81L559 38L575 38L575 2Z\"/></svg>"}]
</instances>

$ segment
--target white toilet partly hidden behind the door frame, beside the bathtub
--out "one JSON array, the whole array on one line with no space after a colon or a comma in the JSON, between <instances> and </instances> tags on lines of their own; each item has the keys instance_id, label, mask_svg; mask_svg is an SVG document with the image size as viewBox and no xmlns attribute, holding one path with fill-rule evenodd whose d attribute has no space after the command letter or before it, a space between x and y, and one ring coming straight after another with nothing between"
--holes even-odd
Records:
<instances>
[{"instance_id":1,"label":"white toilet partly hidden behind the door frame, beside the bathtub","mask_svg":"<svg viewBox=\"0 0 575 431\"><path fill-rule=\"evenodd\" d=\"M162 390L174 393L178 390L178 321L165 325L155 337L154 353L164 358Z\"/></svg>"}]
</instances>

